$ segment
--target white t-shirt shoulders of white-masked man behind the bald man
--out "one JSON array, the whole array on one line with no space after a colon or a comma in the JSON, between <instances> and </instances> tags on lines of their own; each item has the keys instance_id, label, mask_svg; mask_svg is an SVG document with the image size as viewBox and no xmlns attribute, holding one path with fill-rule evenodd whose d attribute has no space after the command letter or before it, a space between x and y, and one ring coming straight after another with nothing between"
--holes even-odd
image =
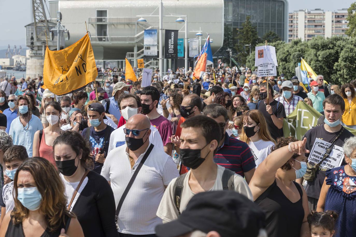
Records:
<instances>
[{"instance_id":1,"label":"white t-shirt shoulders of white-masked man behind the bald man","mask_svg":"<svg viewBox=\"0 0 356 237\"><path fill-rule=\"evenodd\" d=\"M124 128L126 128L126 124L112 131L110 135L108 154L112 149L115 149L115 147L119 147L126 144ZM152 125L151 125L151 134L149 139L150 142L153 145L155 145L155 147L158 147L159 149L164 151L161 135L159 134L157 128L155 128Z\"/></svg>"}]
</instances>

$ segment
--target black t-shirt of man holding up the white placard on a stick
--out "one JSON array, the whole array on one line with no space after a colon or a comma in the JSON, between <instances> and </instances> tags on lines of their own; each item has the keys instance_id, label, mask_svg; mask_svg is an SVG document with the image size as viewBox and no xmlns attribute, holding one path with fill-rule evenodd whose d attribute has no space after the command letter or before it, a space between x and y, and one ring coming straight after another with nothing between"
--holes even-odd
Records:
<instances>
[{"instance_id":1,"label":"black t-shirt of man holding up the white placard on a stick","mask_svg":"<svg viewBox=\"0 0 356 237\"><path fill-rule=\"evenodd\" d=\"M286 112L284 111L284 106L282 103L279 103L275 99L271 103L273 114L276 115L277 118L286 118ZM259 101L257 103L257 109L265 116L269 133L274 140L283 136L283 128L278 129L276 125L274 125L271 115L266 111L265 101Z\"/></svg>"}]
</instances>

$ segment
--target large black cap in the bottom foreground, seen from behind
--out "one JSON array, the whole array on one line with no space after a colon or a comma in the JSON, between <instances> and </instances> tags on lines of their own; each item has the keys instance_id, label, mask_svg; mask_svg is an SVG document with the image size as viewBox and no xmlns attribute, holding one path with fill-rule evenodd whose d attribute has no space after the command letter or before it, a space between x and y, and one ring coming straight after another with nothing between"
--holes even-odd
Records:
<instances>
[{"instance_id":1,"label":"large black cap in the bottom foreground, seen from behind","mask_svg":"<svg viewBox=\"0 0 356 237\"><path fill-rule=\"evenodd\" d=\"M250 199L222 190L198 193L177 220L156 226L158 237L182 236L195 230L220 236L258 236L265 227L265 214Z\"/></svg>"}]
</instances>

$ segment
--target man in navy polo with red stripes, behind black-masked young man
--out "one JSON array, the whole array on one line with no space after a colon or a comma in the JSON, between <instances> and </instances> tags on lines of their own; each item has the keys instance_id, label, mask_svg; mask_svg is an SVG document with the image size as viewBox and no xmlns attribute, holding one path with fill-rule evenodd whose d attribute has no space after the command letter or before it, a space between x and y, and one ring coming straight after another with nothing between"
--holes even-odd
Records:
<instances>
[{"instance_id":1,"label":"man in navy polo with red stripes, behind black-masked young man","mask_svg":"<svg viewBox=\"0 0 356 237\"><path fill-rule=\"evenodd\" d=\"M250 183L256 169L255 159L250 147L245 142L226 133L229 125L227 110L220 104L214 103L206 106L203 114L214 119L220 127L221 140L214 156L214 162L245 177L246 182Z\"/></svg>"}]
</instances>

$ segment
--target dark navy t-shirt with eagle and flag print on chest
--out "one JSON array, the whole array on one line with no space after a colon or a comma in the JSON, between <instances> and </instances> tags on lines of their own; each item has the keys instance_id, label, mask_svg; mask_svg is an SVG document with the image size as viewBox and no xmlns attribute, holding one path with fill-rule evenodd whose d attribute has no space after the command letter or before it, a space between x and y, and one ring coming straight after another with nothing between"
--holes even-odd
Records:
<instances>
[{"instance_id":1,"label":"dark navy t-shirt with eagle and flag print on chest","mask_svg":"<svg viewBox=\"0 0 356 237\"><path fill-rule=\"evenodd\" d=\"M103 167L103 163L96 162L95 155L104 154L106 158L109 149L109 138L112 131L114 131L114 129L111 126L106 125L106 128L104 130L97 132L95 131L94 127L91 126L89 128L85 128L82 131L82 136L84 139L86 139L87 129L90 129L89 142L90 142L91 152L93 153L93 160L94 160L93 171L100 174L101 168Z\"/></svg>"}]
</instances>

